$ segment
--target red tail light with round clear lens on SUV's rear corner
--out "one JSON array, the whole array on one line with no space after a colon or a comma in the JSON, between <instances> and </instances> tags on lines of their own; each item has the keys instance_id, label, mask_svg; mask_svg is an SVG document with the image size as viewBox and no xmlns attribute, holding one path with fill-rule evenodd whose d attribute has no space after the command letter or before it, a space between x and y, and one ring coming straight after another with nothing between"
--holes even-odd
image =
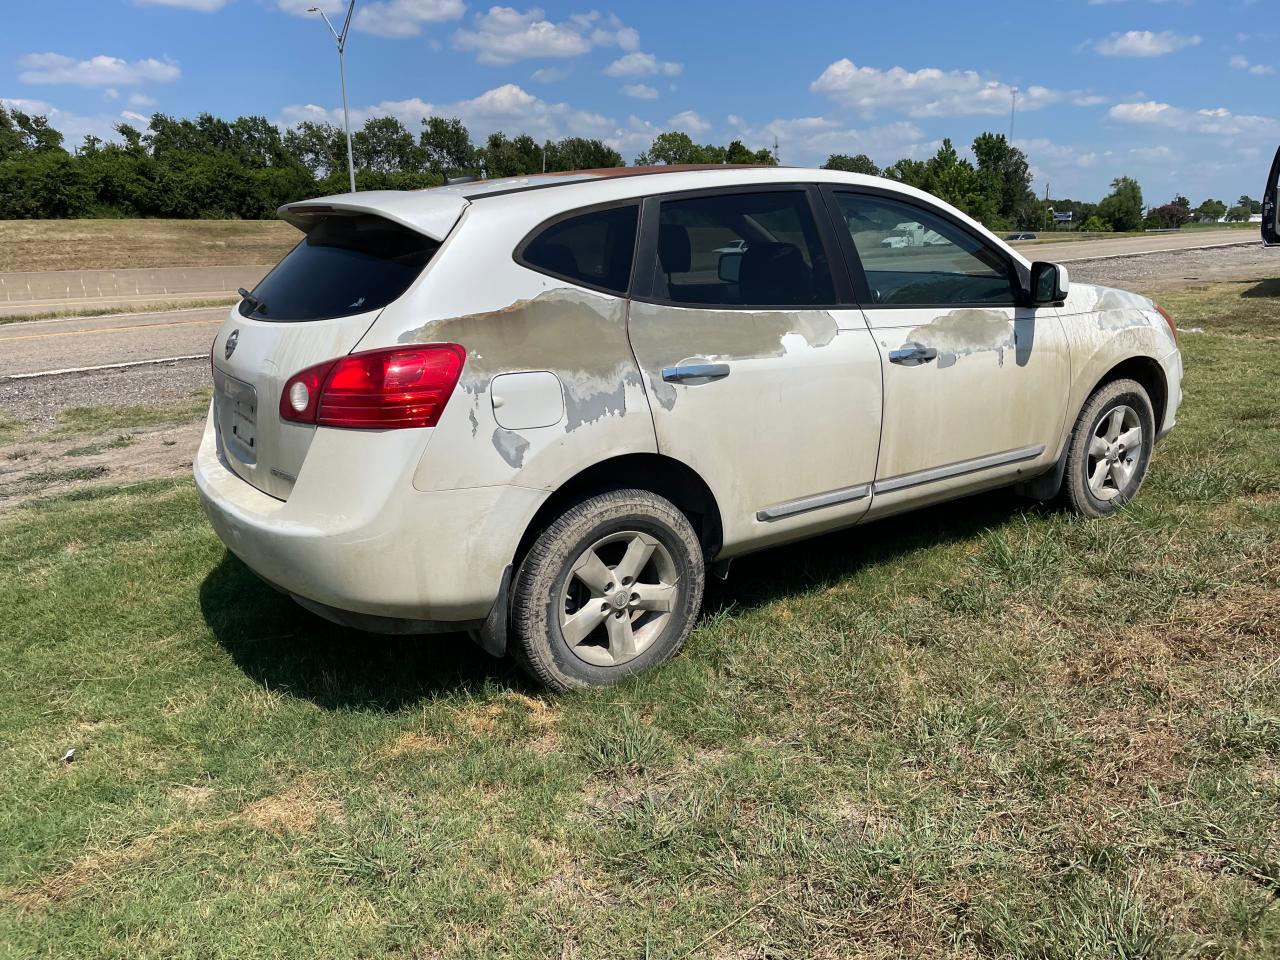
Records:
<instances>
[{"instance_id":1,"label":"red tail light with round clear lens on SUV's rear corner","mask_svg":"<svg viewBox=\"0 0 1280 960\"><path fill-rule=\"evenodd\" d=\"M456 343L388 347L300 370L280 392L280 417L296 424L389 430L435 426L462 374Z\"/></svg>"}]
</instances>

